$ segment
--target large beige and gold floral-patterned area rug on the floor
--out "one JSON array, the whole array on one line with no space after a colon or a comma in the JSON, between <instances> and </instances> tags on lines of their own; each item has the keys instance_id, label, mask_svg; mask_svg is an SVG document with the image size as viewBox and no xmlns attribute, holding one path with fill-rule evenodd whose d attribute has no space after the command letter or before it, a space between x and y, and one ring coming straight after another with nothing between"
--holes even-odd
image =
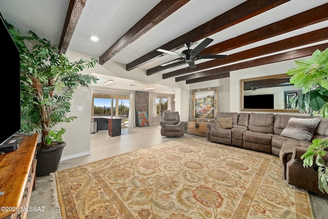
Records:
<instances>
[{"instance_id":1,"label":"large beige and gold floral-patterned area rug on the floor","mask_svg":"<svg viewBox=\"0 0 328 219\"><path fill-rule=\"evenodd\" d=\"M55 176L63 218L313 218L279 157L193 137Z\"/></svg>"}]
</instances>

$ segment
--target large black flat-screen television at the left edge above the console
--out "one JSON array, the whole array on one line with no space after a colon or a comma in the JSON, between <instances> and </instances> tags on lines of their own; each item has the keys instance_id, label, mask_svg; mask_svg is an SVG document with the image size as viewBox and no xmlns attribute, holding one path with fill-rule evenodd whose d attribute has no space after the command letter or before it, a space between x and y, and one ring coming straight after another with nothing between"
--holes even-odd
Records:
<instances>
[{"instance_id":1,"label":"large black flat-screen television at the left edge above the console","mask_svg":"<svg viewBox=\"0 0 328 219\"><path fill-rule=\"evenodd\" d=\"M20 64L19 50L16 47L5 23L1 18L1 41L3 55L1 57L3 83L2 87L1 117L2 129L0 131L0 146L20 130ZM6 49L5 49L6 48Z\"/></svg>"}]
</instances>

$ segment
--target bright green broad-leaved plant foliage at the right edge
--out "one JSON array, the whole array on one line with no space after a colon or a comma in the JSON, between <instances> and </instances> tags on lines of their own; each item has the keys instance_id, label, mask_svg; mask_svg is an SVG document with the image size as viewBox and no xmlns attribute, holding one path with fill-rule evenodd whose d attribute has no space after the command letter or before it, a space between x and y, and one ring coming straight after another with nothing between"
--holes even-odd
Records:
<instances>
[{"instance_id":1,"label":"bright green broad-leaved plant foliage at the right edge","mask_svg":"<svg viewBox=\"0 0 328 219\"><path fill-rule=\"evenodd\" d=\"M311 116L320 114L328 118L328 48L324 51L316 50L312 58L295 61L297 67L286 72L293 75L290 83L297 89L302 88L302 93L292 100L292 107ZM318 188L328 193L328 163L323 156L327 153L328 138L315 139L312 145L301 156L303 166L308 168L315 161L318 166Z\"/></svg>"}]
</instances>

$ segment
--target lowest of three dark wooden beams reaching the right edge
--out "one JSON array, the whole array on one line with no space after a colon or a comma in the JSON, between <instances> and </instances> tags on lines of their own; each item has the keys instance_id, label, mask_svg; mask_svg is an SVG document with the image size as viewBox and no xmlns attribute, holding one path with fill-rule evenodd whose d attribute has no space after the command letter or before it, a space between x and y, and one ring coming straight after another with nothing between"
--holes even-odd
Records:
<instances>
[{"instance_id":1,"label":"lowest of three dark wooden beams reaching the right edge","mask_svg":"<svg viewBox=\"0 0 328 219\"><path fill-rule=\"evenodd\" d=\"M284 52L284 53L280 53L280 54L276 54L276 55L271 55L271 56L267 56L267 57L263 57L263 58L254 59L251 61L238 63L238 64L231 65L231 66L224 66L221 68L198 72L195 74L189 74L189 75L185 75L185 76L176 77L175 81L180 82L180 81L186 80L186 84L210 81L210 80L212 80L213 75L215 75L215 74L220 75L226 71L236 71L236 70L240 70L240 69L251 68L251 67L286 61L286 60L290 60L290 59L310 56L310 55L312 55L312 53L315 50L319 49L320 51L323 51L326 48L328 48L328 43L319 44L319 45L315 45L315 46L311 46L311 47L306 47L303 49L297 49L297 50L293 50L293 51L289 51L289 52ZM217 79L217 78L214 78L214 79Z\"/></svg>"}]
</instances>

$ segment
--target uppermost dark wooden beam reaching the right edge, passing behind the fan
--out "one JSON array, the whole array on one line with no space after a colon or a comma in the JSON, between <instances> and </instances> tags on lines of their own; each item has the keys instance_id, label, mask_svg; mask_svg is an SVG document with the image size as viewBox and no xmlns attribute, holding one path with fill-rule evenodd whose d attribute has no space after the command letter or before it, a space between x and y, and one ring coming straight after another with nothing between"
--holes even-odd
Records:
<instances>
[{"instance_id":1,"label":"uppermost dark wooden beam reaching the right edge, passing behind the fan","mask_svg":"<svg viewBox=\"0 0 328 219\"><path fill-rule=\"evenodd\" d=\"M277 36L286 32L297 30L309 25L313 25L328 19L328 3L320 5L316 8L304 11L291 17L282 19L281 21L269 24L256 30L244 33L234 38L228 39L221 43L203 49L199 54L219 54L228 50L236 49L248 44L252 44L263 39ZM156 66L147 70L147 75L181 66L185 62L173 63L168 66Z\"/></svg>"}]
</instances>

